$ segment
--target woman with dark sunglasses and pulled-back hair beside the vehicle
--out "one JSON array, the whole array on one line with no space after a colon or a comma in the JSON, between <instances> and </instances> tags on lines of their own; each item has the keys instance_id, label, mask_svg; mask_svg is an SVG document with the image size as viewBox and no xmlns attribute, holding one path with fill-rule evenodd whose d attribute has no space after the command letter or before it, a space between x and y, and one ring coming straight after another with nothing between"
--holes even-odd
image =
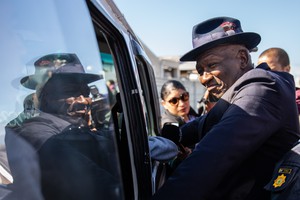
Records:
<instances>
[{"instance_id":1,"label":"woman with dark sunglasses and pulled-back hair beside the vehicle","mask_svg":"<svg viewBox=\"0 0 300 200\"><path fill-rule=\"evenodd\" d=\"M181 126L197 117L197 113L190 106L189 93L181 82L177 80L165 82L160 96L161 105L165 109L161 119L162 126L165 123L178 123Z\"/></svg>"}]
</instances>

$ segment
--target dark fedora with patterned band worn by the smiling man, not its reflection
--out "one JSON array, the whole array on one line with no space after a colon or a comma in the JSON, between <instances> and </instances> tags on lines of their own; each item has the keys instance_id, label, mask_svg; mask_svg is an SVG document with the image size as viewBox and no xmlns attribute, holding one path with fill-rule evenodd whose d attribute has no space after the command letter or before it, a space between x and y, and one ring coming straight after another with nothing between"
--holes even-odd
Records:
<instances>
[{"instance_id":1,"label":"dark fedora with patterned band worn by the smiling man, not its reflection","mask_svg":"<svg viewBox=\"0 0 300 200\"><path fill-rule=\"evenodd\" d=\"M257 33L243 32L239 20L231 17L216 17L193 27L193 50L187 52L180 61L196 61L204 51L221 44L243 44L249 50L261 40Z\"/></svg>"}]
</instances>

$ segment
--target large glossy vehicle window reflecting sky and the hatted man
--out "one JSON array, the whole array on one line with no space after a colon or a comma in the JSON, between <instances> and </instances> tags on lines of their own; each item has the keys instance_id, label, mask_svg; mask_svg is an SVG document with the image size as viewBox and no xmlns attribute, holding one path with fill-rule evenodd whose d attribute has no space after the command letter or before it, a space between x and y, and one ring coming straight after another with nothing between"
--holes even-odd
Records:
<instances>
[{"instance_id":1,"label":"large glossy vehicle window reflecting sky and the hatted man","mask_svg":"<svg viewBox=\"0 0 300 200\"><path fill-rule=\"evenodd\" d=\"M0 144L10 165L0 155L2 184L25 199L122 198L104 73L111 58L85 1L0 8Z\"/></svg>"}]
</instances>

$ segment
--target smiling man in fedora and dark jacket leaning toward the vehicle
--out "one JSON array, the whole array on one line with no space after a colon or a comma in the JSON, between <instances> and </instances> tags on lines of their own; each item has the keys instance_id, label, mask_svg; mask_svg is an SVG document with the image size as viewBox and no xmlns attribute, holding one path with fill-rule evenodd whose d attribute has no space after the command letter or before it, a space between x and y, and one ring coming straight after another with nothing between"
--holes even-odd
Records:
<instances>
[{"instance_id":1,"label":"smiling man in fedora and dark jacket leaning toward the vehicle","mask_svg":"<svg viewBox=\"0 0 300 200\"><path fill-rule=\"evenodd\" d=\"M293 77L253 67L249 52L260 40L230 17L194 26L193 50L181 61L196 61L200 82L219 100L177 134L165 134L198 144L154 199L270 198L264 186L300 134Z\"/></svg>"}]
</instances>

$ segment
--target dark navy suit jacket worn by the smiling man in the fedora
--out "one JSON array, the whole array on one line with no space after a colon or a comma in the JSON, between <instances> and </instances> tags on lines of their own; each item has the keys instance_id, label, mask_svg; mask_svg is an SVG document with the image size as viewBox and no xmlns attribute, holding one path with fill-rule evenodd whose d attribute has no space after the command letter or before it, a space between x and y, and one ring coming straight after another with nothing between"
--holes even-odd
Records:
<instances>
[{"instance_id":1,"label":"dark navy suit jacket worn by the smiling man in the fedora","mask_svg":"<svg viewBox=\"0 0 300 200\"><path fill-rule=\"evenodd\" d=\"M265 69L261 69L265 68ZM295 85L265 65L250 70L208 115L182 127L200 142L154 199L268 199L275 163L299 138Z\"/></svg>"}]
</instances>

